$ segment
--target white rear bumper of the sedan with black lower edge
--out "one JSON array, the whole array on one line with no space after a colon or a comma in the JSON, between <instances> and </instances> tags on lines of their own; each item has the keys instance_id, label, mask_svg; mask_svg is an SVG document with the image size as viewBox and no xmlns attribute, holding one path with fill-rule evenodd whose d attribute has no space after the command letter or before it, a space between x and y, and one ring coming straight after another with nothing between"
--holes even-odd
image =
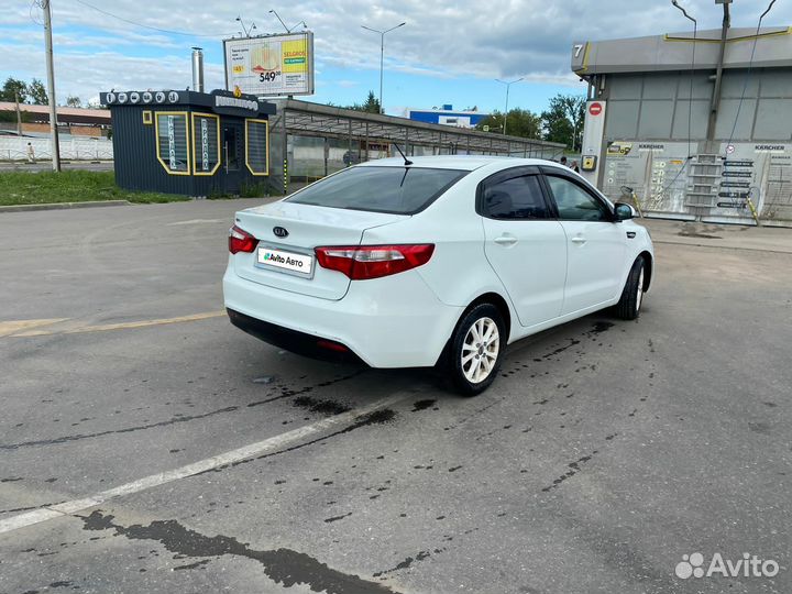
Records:
<instances>
[{"instance_id":1,"label":"white rear bumper of the sedan with black lower edge","mask_svg":"<svg viewBox=\"0 0 792 594\"><path fill-rule=\"evenodd\" d=\"M223 294L231 321L256 338L311 356L345 359L317 344L323 339L372 367L435 365L463 311L441 302L415 271L355 280L342 299L330 300L246 280L230 266Z\"/></svg>"}]
</instances>

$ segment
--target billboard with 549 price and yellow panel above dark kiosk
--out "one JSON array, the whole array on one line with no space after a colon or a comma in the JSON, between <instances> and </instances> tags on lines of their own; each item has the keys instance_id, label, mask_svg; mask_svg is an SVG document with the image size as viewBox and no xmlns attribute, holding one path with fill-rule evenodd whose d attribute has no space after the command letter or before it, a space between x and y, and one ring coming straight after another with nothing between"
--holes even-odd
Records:
<instances>
[{"instance_id":1,"label":"billboard with 549 price and yellow panel above dark kiosk","mask_svg":"<svg viewBox=\"0 0 792 594\"><path fill-rule=\"evenodd\" d=\"M223 40L226 88L256 97L314 95L314 32Z\"/></svg>"}]
</instances>

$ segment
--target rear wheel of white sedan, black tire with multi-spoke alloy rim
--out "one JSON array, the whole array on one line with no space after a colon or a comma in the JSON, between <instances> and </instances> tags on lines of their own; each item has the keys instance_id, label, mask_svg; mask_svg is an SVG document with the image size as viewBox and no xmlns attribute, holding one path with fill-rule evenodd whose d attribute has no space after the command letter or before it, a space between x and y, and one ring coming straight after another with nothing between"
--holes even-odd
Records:
<instances>
[{"instance_id":1,"label":"rear wheel of white sedan, black tire with multi-spoke alloy rim","mask_svg":"<svg viewBox=\"0 0 792 594\"><path fill-rule=\"evenodd\" d=\"M507 339L501 311L492 304L475 306L457 324L441 373L462 396L481 394L497 376Z\"/></svg>"}]
</instances>

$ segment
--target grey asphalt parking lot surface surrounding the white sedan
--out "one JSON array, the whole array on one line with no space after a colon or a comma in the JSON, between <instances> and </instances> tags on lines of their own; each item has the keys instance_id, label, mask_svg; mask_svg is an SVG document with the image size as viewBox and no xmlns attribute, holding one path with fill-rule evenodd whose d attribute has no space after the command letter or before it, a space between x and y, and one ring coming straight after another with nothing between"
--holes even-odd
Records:
<instances>
[{"instance_id":1,"label":"grey asphalt parking lot surface surrounding the white sedan","mask_svg":"<svg viewBox=\"0 0 792 594\"><path fill-rule=\"evenodd\" d=\"M650 221L637 321L461 398L233 328L256 202L0 215L0 593L792 590L792 230Z\"/></svg>"}]
</instances>

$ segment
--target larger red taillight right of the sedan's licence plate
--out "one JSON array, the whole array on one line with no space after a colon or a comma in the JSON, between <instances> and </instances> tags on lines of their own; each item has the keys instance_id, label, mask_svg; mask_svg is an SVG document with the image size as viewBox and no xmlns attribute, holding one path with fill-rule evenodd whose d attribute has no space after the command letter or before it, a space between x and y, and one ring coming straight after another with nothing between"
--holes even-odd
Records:
<instances>
[{"instance_id":1,"label":"larger red taillight right of the sedan's licence plate","mask_svg":"<svg viewBox=\"0 0 792 594\"><path fill-rule=\"evenodd\" d=\"M317 248L317 261L322 268L338 271L352 280L380 278L409 271L429 262L435 245L341 245Z\"/></svg>"}]
</instances>

